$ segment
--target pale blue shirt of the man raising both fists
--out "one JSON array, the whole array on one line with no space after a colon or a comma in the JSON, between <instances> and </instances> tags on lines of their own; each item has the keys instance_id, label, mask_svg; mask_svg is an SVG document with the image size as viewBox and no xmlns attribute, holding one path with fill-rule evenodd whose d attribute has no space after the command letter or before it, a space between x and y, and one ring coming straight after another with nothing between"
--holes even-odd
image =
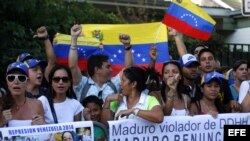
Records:
<instances>
[{"instance_id":1,"label":"pale blue shirt of the man raising both fists","mask_svg":"<svg viewBox=\"0 0 250 141\"><path fill-rule=\"evenodd\" d=\"M115 85L116 90L119 90L120 89L120 82L121 82L120 73L118 73L115 77L112 77L111 82ZM76 98L78 101L80 101L83 88L87 83L91 86L90 86L85 97L90 96L90 95L98 96L98 93L100 91L102 91L102 99L103 99L103 101L105 101L107 96L115 93L115 91L110 87L110 85L108 85L108 82L104 83L102 85L102 87L99 87L98 84L95 83L92 78L82 76L79 84L73 86L73 89L74 89L74 92L76 94Z\"/></svg>"}]
</instances>

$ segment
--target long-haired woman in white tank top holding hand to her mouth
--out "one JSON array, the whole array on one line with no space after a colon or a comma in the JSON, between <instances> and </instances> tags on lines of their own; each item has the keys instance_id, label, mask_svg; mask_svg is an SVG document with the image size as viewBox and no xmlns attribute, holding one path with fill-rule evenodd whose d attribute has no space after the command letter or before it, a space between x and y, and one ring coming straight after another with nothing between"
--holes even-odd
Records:
<instances>
[{"instance_id":1,"label":"long-haired woman in white tank top holding hand to her mouth","mask_svg":"<svg viewBox=\"0 0 250 141\"><path fill-rule=\"evenodd\" d=\"M183 93L182 87L180 63L175 60L165 62L162 67L161 92L151 93L160 101L165 115L189 115L191 99Z\"/></svg>"}]
</instances>

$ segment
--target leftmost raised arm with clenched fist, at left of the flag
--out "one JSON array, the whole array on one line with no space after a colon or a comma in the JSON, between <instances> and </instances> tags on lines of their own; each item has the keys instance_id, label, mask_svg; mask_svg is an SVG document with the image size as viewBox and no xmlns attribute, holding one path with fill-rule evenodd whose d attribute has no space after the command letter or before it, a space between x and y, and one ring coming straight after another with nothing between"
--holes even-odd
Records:
<instances>
[{"instance_id":1,"label":"leftmost raised arm with clenched fist, at left of the flag","mask_svg":"<svg viewBox=\"0 0 250 141\"><path fill-rule=\"evenodd\" d=\"M45 76L45 79L48 81L49 73L56 64L56 56L55 56L52 44L49 40L49 35L48 35L46 27L45 26L39 27L36 30L36 35L34 35L34 38L39 38L39 39L44 40L43 42L44 42L45 52L46 52L47 62L48 62L48 65L45 68L44 76Z\"/></svg>"}]
</instances>

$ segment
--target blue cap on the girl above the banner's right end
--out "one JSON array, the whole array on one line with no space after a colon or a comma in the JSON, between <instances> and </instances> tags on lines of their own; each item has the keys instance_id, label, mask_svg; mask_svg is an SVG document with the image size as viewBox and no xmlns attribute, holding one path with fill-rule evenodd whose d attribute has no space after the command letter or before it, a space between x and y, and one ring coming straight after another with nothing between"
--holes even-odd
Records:
<instances>
[{"instance_id":1,"label":"blue cap on the girl above the banner's right end","mask_svg":"<svg viewBox=\"0 0 250 141\"><path fill-rule=\"evenodd\" d=\"M221 79L225 79L225 76L221 73L218 73L216 71L206 73L201 78L201 85L207 84L211 82L212 80L218 80L219 83L221 83Z\"/></svg>"}]
</instances>

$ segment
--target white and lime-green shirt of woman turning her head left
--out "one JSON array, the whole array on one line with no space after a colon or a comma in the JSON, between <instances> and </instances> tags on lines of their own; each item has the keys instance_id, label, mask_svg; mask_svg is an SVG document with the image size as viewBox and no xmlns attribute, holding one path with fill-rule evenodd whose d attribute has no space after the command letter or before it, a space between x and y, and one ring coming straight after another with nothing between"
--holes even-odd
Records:
<instances>
[{"instance_id":1,"label":"white and lime-green shirt of woman turning her head left","mask_svg":"<svg viewBox=\"0 0 250 141\"><path fill-rule=\"evenodd\" d=\"M141 93L140 99L138 101L138 103L133 107L133 108L138 108L141 110L151 110L154 106L160 106L159 101L151 95L147 95L145 93ZM117 111L115 114L118 114L119 111L121 110L127 110L128 106L127 106L127 97L123 97L122 103L120 103ZM138 116L135 116L133 114L129 115L128 117L124 117L124 118L140 118ZM119 117L118 119L122 119L121 117Z\"/></svg>"}]
</instances>

